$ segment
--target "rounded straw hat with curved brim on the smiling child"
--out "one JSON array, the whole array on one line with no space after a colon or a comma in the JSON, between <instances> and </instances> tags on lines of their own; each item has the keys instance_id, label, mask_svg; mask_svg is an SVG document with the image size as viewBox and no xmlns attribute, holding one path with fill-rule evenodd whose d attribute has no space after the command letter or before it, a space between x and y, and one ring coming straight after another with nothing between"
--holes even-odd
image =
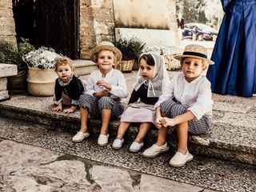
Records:
<instances>
[{"instance_id":1,"label":"rounded straw hat with curved brim on the smiling child","mask_svg":"<svg viewBox=\"0 0 256 192\"><path fill-rule=\"evenodd\" d=\"M97 62L97 54L101 50L110 50L114 53L114 56L117 58L117 63L122 59L122 52L116 48L111 42L100 42L97 46L94 46L92 50L90 50L90 59L93 62Z\"/></svg>"}]
</instances>

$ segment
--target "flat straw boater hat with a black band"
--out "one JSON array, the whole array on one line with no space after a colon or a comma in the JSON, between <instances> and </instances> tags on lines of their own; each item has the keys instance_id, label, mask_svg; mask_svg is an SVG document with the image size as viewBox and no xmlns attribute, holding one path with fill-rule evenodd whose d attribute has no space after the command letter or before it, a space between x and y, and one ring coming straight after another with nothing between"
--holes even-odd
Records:
<instances>
[{"instance_id":1,"label":"flat straw boater hat with a black band","mask_svg":"<svg viewBox=\"0 0 256 192\"><path fill-rule=\"evenodd\" d=\"M174 58L181 60L181 58L202 58L205 59L209 65L213 65L214 62L207 58L207 49L204 46L199 45L188 45L185 46L183 54L177 54Z\"/></svg>"}]
</instances>

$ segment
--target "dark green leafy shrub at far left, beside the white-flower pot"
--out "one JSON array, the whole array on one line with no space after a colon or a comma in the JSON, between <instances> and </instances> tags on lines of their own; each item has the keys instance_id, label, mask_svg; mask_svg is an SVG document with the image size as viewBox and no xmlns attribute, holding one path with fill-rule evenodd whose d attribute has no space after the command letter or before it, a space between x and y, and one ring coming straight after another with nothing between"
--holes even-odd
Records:
<instances>
[{"instance_id":1,"label":"dark green leafy shrub at far left, beside the white-flower pot","mask_svg":"<svg viewBox=\"0 0 256 192\"><path fill-rule=\"evenodd\" d=\"M16 46L13 42L0 40L0 62L17 65L18 71L27 70L26 63L22 60L24 54L34 50L28 39L21 38L22 42Z\"/></svg>"}]
</instances>

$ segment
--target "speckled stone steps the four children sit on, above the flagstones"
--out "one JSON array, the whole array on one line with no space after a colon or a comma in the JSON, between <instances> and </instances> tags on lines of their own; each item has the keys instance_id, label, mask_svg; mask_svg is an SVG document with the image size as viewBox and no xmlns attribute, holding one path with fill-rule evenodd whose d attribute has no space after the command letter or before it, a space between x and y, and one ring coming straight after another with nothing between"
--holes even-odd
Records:
<instances>
[{"instance_id":1,"label":"speckled stone steps the four children sit on, above the flagstones","mask_svg":"<svg viewBox=\"0 0 256 192\"><path fill-rule=\"evenodd\" d=\"M89 66L93 67L90 64ZM79 73L82 79L88 77L88 73ZM175 72L168 73L172 78ZM136 74L137 71L124 74L129 91L132 89ZM52 97L32 97L27 94L10 96L10 100L0 102L0 142L2 139L10 139L65 153L67 157L72 155L73 158L90 159L212 190L256 191L255 97L239 98L213 94L213 129L206 135L190 136L189 149L194 154L194 161L177 169L168 166L175 150L174 134L170 135L168 140L170 146L173 146L171 150L153 159L143 158L142 152L128 152L130 143L138 131L136 125L128 130L124 147L118 151L112 149L111 144L117 134L118 121L110 122L110 144L106 147L97 145L101 126L101 121L97 119L89 121L91 137L85 142L74 143L71 142L71 138L80 126L78 110L74 114L53 112ZM124 102L127 101L128 98ZM152 145L156 137L157 130L153 128L145 139L142 151Z\"/></svg>"}]
</instances>

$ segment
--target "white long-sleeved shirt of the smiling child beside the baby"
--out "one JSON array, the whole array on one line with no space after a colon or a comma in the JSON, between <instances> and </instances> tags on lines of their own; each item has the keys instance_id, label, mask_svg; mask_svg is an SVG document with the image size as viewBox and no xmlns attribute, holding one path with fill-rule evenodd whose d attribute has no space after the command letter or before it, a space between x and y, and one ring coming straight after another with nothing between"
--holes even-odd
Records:
<instances>
[{"instance_id":1,"label":"white long-sleeved shirt of the smiling child beside the baby","mask_svg":"<svg viewBox=\"0 0 256 192\"><path fill-rule=\"evenodd\" d=\"M93 95L95 92L106 90L104 86L97 85L99 80L104 80L111 84L112 89L110 90L110 98L126 98L128 96L126 78L120 70L115 69L111 69L104 78L102 77L100 70L92 72L86 83L86 94Z\"/></svg>"}]
</instances>

